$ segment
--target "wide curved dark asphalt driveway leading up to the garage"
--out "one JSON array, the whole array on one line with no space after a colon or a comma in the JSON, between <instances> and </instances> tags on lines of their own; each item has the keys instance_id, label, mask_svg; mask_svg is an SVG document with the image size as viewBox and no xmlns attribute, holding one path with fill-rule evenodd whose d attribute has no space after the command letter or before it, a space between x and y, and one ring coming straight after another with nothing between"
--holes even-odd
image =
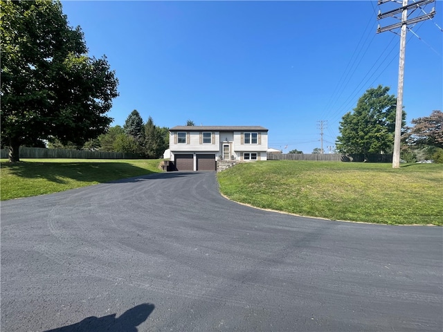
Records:
<instances>
[{"instance_id":1,"label":"wide curved dark asphalt driveway leading up to the garage","mask_svg":"<svg viewBox=\"0 0 443 332\"><path fill-rule=\"evenodd\" d=\"M442 331L442 228L256 210L214 172L1 203L1 331Z\"/></svg>"}]
</instances>

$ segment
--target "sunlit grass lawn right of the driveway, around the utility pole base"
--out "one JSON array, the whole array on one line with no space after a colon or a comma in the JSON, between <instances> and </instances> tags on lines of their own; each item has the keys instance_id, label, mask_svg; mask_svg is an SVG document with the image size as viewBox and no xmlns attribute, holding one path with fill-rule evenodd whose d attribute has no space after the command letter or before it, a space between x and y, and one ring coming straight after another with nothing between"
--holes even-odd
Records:
<instances>
[{"instance_id":1,"label":"sunlit grass lawn right of the driveway, around the utility pole base","mask_svg":"<svg viewBox=\"0 0 443 332\"><path fill-rule=\"evenodd\" d=\"M257 208L386 224L443 225L443 165L262 161L218 175L221 193Z\"/></svg>"}]
</instances>

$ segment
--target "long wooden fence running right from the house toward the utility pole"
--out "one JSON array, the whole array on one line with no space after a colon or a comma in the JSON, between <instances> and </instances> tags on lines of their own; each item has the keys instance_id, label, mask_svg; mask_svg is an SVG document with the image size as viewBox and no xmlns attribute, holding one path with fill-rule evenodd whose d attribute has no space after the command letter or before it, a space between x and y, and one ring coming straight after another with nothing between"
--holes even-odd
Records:
<instances>
[{"instance_id":1,"label":"long wooden fence running right from the house toward the utility pole","mask_svg":"<svg viewBox=\"0 0 443 332\"><path fill-rule=\"evenodd\" d=\"M311 160L311 161L344 161L369 163L392 163L392 154L370 154L365 160L363 154L267 154L267 160Z\"/></svg>"}]
</instances>

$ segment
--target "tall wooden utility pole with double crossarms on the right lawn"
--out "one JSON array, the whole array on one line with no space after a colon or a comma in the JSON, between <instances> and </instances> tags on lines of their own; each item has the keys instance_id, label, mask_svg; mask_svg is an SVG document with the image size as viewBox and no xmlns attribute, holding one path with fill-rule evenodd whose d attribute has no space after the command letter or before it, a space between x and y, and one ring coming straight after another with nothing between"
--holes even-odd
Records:
<instances>
[{"instance_id":1,"label":"tall wooden utility pole with double crossarms on the right lawn","mask_svg":"<svg viewBox=\"0 0 443 332\"><path fill-rule=\"evenodd\" d=\"M427 5L428 3L433 3L435 0L418 0L413 3L408 3L409 0L402 0L402 6L400 8L389 10L388 12L381 13L377 16L377 19L384 19L386 17L395 17L395 15L401 12L401 21L397 24L392 24L384 28L377 28L377 33L383 33L385 31L394 30L401 28L400 32L400 55L399 55L399 80L397 87L397 109L395 110L395 134L394 134L394 151L392 154L392 168L400 167L400 138L401 138L401 120L403 116L403 83L404 83L404 59L405 59L405 48L406 48L406 28L408 24L416 24L419 21L424 21L425 19L432 19L435 15L435 8L431 10L429 14L415 17L413 19L408 19L408 9L413 11L421 6ZM379 0L379 6L386 2L392 2L392 0ZM400 1L396 1L400 3Z\"/></svg>"}]
</instances>

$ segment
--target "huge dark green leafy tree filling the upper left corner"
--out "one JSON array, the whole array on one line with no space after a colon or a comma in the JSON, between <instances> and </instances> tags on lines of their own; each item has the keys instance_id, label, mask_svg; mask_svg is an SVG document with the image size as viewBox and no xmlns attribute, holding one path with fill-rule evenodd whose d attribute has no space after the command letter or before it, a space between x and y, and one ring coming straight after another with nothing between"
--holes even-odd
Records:
<instances>
[{"instance_id":1,"label":"huge dark green leafy tree filling the upper left corner","mask_svg":"<svg viewBox=\"0 0 443 332\"><path fill-rule=\"evenodd\" d=\"M80 27L60 1L1 1L1 140L9 160L20 145L57 138L82 145L105 133L118 80L105 56L87 55Z\"/></svg>"}]
</instances>

